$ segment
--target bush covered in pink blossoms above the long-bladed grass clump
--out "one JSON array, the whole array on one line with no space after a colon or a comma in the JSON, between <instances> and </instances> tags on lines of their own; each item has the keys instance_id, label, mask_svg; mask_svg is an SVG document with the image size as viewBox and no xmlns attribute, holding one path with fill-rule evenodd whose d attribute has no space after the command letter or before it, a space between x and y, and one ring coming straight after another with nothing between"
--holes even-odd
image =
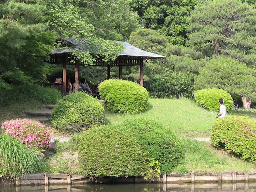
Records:
<instances>
[{"instance_id":1,"label":"bush covered in pink blossoms above the long-bladed grass clump","mask_svg":"<svg viewBox=\"0 0 256 192\"><path fill-rule=\"evenodd\" d=\"M51 146L50 132L40 122L17 119L4 122L1 128L4 132L27 144L28 148L46 150ZM44 154L41 155L44 156Z\"/></svg>"}]
</instances>

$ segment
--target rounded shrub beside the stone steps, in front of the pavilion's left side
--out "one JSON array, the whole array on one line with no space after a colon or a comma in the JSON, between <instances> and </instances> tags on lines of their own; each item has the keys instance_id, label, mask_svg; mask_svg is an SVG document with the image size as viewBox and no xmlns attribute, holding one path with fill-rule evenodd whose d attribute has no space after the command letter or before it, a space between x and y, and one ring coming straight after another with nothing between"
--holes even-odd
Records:
<instances>
[{"instance_id":1,"label":"rounded shrub beside the stone steps, in front of the pavilion's left side","mask_svg":"<svg viewBox=\"0 0 256 192\"><path fill-rule=\"evenodd\" d=\"M78 133L92 125L102 125L104 107L85 92L71 93L53 108L52 123L62 133Z\"/></svg>"}]
</instances>

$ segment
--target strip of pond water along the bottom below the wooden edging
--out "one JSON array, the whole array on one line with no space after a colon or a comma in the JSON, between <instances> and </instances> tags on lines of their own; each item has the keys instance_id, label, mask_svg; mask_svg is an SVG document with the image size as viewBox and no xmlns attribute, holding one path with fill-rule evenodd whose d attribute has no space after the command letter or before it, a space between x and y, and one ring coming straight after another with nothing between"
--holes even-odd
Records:
<instances>
[{"instance_id":1,"label":"strip of pond water along the bottom below the wooden edging","mask_svg":"<svg viewBox=\"0 0 256 192\"><path fill-rule=\"evenodd\" d=\"M0 186L0 192L256 192L256 183L84 184Z\"/></svg>"}]
</instances>

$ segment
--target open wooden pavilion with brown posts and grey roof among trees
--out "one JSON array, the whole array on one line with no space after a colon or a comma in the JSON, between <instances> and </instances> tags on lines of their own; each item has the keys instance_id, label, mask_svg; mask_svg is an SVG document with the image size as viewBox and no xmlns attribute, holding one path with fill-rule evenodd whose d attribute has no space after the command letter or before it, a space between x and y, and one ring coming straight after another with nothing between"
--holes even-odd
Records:
<instances>
[{"instance_id":1,"label":"open wooden pavilion with brown posts and grey roof among trees","mask_svg":"<svg viewBox=\"0 0 256 192\"><path fill-rule=\"evenodd\" d=\"M66 66L67 65L75 65L75 92L78 91L78 74L79 74L79 66L84 65L80 60L74 60L74 56L72 52L76 50L83 50L83 47L80 46L80 43L76 41L74 38L65 38L66 47L68 48L60 48L53 49L52 54L50 55L50 60L48 63L50 64L62 64L63 65L63 77L62 77L62 93L66 94ZM110 79L110 68L112 66L119 66L119 78L122 79L122 66L140 66L140 86L143 86L143 66L146 63L147 59L165 59L166 56L154 54L151 52L147 52L141 50L127 42L120 42L124 45L125 50L121 51L118 54L118 57L114 61L104 62L102 58L96 58L94 62L95 66L107 67L107 77Z\"/></svg>"}]
</instances>

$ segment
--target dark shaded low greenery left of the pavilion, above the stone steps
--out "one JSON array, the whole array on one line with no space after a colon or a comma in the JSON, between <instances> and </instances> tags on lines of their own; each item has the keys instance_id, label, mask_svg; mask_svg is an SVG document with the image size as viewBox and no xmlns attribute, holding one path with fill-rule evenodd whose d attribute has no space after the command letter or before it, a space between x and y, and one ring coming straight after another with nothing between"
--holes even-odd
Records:
<instances>
[{"instance_id":1,"label":"dark shaded low greenery left of the pavilion, above the stone steps","mask_svg":"<svg viewBox=\"0 0 256 192\"><path fill-rule=\"evenodd\" d=\"M56 89L30 84L16 85L0 92L0 107L14 106L19 102L31 100L36 100L41 104L56 104L61 97Z\"/></svg>"}]
</instances>

